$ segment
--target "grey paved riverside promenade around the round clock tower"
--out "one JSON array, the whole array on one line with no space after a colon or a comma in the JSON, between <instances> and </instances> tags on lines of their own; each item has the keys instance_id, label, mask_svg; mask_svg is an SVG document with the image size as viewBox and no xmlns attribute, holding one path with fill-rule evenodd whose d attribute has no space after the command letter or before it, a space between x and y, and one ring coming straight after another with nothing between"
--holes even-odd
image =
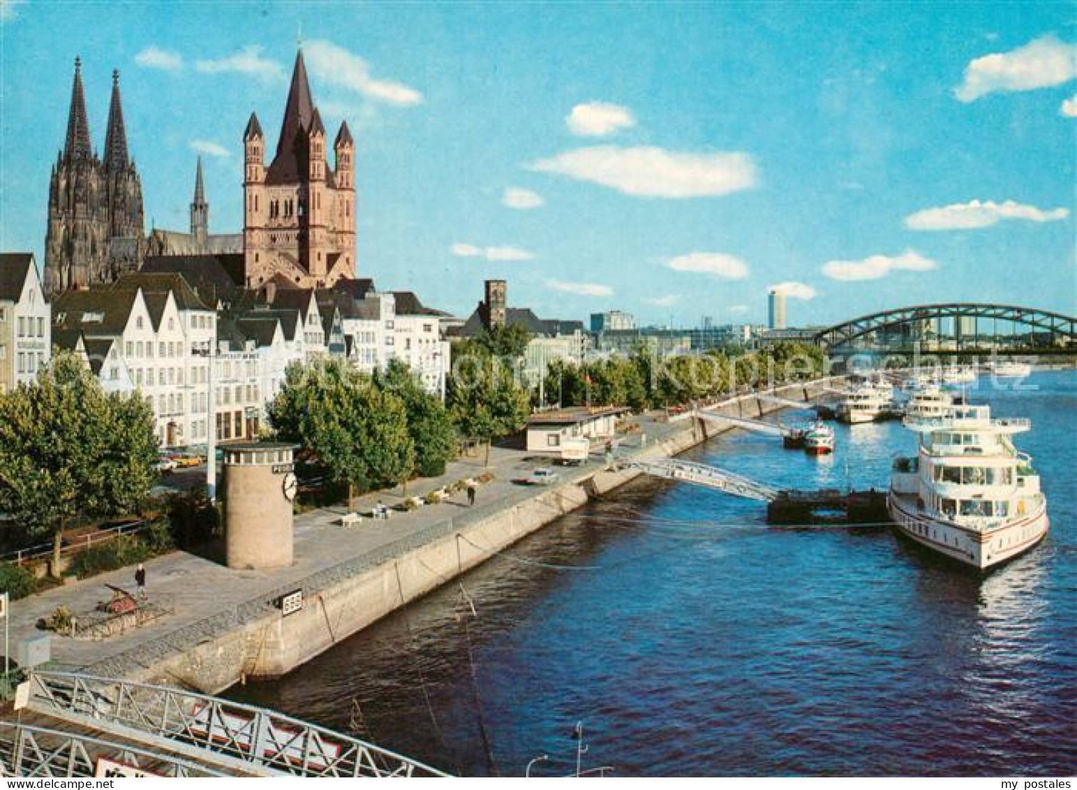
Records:
<instances>
[{"instance_id":1,"label":"grey paved riverside promenade around the round clock tower","mask_svg":"<svg viewBox=\"0 0 1077 790\"><path fill-rule=\"evenodd\" d=\"M658 417L645 416L638 421L641 431L629 433L620 441L621 457L651 449L685 430L684 425L671 425ZM643 434L646 447L641 447ZM232 570L214 559L184 551L149 560L145 563L148 595L151 601L154 598L168 600L172 613L100 640L53 634L50 667L116 676L157 665L170 654L190 650L234 628L246 618L265 612L283 592L303 588L310 595L334 573L339 576L354 572L356 568L375 567L545 490L521 486L513 480L526 477L537 467L550 466L548 458L534 458L522 449L494 446L489 467L484 466L484 460L485 449L480 449L476 457L450 462L445 474L411 481L407 486L408 497L422 497L446 484L490 471L494 479L477 487L474 507L467 504L467 493L460 491L438 504L423 504L410 512L391 510L388 519L364 516L348 527L341 524L341 517L348 512L346 504L296 515L295 562L288 568ZM558 471L562 482L574 482L605 466L606 459L599 449L581 467L558 468ZM400 488L367 494L356 499L355 511L369 513L379 500L392 509L403 499ZM10 610L13 650L20 640L48 634L38 629L36 624L57 608L66 607L78 618L111 597L112 591L107 585L134 590L134 573L130 567L90 579L68 580L61 586L13 601Z\"/></svg>"}]
</instances>

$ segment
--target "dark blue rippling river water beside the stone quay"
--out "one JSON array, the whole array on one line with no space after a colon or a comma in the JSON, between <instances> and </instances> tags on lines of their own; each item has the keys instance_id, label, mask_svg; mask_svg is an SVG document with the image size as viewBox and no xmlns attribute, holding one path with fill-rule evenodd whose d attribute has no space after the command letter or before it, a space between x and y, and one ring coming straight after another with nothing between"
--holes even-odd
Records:
<instances>
[{"instance_id":1,"label":"dark blue rippling river water beside the stone quay","mask_svg":"<svg viewBox=\"0 0 1077 790\"><path fill-rule=\"evenodd\" d=\"M1025 385L973 400L1032 419L1051 531L983 578L885 527L772 528L761 503L638 481L229 696L453 773L545 753L534 774L571 774L581 720L584 768L619 776L1073 775L1077 373ZM839 426L823 459L740 432L686 457L866 488L912 448L887 422Z\"/></svg>"}]
</instances>

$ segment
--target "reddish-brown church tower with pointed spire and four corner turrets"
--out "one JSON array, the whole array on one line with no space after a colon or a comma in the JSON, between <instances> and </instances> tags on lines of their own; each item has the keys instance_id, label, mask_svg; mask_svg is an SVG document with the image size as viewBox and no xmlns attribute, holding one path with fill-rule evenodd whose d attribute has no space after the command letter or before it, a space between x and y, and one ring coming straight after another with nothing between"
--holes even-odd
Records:
<instances>
[{"instance_id":1,"label":"reddish-brown church tower with pointed spire and four corner turrets","mask_svg":"<svg viewBox=\"0 0 1077 790\"><path fill-rule=\"evenodd\" d=\"M277 152L265 167L265 136L253 113L243 131L243 253L248 287L280 275L304 288L355 276L354 142L347 123L326 161L325 126L300 50Z\"/></svg>"}]
</instances>

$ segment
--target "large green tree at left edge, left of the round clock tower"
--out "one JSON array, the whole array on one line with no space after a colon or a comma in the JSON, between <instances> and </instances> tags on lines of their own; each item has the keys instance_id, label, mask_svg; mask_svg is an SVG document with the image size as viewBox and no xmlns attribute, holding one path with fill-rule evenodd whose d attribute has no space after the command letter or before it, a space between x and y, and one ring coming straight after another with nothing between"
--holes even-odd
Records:
<instances>
[{"instance_id":1,"label":"large green tree at left edge, left of the round clock tower","mask_svg":"<svg viewBox=\"0 0 1077 790\"><path fill-rule=\"evenodd\" d=\"M156 473L153 412L138 393L106 394L88 368L57 354L33 384L0 396L0 510L31 536L75 518L137 512Z\"/></svg>"}]
</instances>

